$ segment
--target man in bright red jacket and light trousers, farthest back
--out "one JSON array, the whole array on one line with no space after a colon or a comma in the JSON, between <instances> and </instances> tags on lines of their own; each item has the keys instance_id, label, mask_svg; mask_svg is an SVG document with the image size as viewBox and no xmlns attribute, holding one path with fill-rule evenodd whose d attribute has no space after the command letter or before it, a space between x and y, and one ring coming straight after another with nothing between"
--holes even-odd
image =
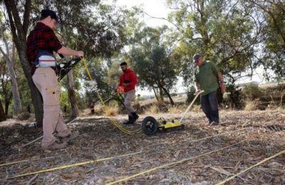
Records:
<instances>
[{"instance_id":1,"label":"man in bright red jacket and light trousers, farthest back","mask_svg":"<svg viewBox=\"0 0 285 185\"><path fill-rule=\"evenodd\" d=\"M137 75L135 75L133 70L128 68L127 63L125 62L121 63L120 68L121 70L123 70L123 74L120 75L120 83L118 86L124 87L124 92L125 92L124 104L129 117L128 122L124 122L124 125L129 125L133 124L136 120L138 120L138 115L131 104L133 98L135 97L135 85L137 85L138 80L137 80Z\"/></svg>"}]
</instances>

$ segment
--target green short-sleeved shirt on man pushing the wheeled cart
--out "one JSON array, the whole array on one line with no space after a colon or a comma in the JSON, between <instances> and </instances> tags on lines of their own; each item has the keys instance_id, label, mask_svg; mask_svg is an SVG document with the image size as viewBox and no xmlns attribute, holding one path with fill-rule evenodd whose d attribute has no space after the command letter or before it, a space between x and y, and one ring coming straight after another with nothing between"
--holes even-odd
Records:
<instances>
[{"instance_id":1,"label":"green short-sleeved shirt on man pushing the wheeled cart","mask_svg":"<svg viewBox=\"0 0 285 185\"><path fill-rule=\"evenodd\" d=\"M217 74L219 68L217 65L211 61L204 61L203 65L195 68L195 82L199 83L201 90L204 90L204 93L201 95L207 95L214 92L219 88L217 82Z\"/></svg>"}]
</instances>

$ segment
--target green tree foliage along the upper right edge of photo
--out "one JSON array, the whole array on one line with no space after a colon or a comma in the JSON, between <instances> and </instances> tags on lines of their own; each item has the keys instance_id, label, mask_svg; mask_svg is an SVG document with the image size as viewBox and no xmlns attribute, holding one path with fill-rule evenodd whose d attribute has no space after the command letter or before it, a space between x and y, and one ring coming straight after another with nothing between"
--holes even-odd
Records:
<instances>
[{"instance_id":1,"label":"green tree foliage along the upper right edge of photo","mask_svg":"<svg viewBox=\"0 0 285 185\"><path fill-rule=\"evenodd\" d=\"M274 75L266 73L266 79L284 80L285 71L285 1L256 1L255 5L266 21L262 31L262 51L257 56L266 71L273 70Z\"/></svg>"}]
</instances>

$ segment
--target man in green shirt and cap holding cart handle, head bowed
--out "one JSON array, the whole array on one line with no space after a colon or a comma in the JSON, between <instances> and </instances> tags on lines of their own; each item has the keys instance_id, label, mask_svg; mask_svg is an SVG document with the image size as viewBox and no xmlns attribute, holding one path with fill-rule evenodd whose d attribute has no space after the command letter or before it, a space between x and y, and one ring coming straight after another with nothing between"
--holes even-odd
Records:
<instances>
[{"instance_id":1,"label":"man in green shirt and cap holding cart handle, head bowed","mask_svg":"<svg viewBox=\"0 0 285 185\"><path fill-rule=\"evenodd\" d=\"M217 65L211 61L204 61L202 56L195 54L193 61L195 68L195 89L196 93L201 93L202 110L209 120L210 125L219 125L219 108L217 102L217 89L221 88L224 93L225 86L222 81L222 73Z\"/></svg>"}]
</instances>

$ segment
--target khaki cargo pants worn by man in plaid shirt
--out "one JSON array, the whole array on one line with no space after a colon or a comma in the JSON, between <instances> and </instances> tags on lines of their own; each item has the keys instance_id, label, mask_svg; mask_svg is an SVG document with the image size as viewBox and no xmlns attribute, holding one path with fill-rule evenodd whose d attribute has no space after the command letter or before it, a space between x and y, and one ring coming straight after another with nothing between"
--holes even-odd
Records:
<instances>
[{"instance_id":1,"label":"khaki cargo pants worn by man in plaid shirt","mask_svg":"<svg viewBox=\"0 0 285 185\"><path fill-rule=\"evenodd\" d=\"M70 132L63 121L60 110L60 87L56 73L52 68L37 68L33 74L33 83L43 97L43 140L42 147L48 147L56 141L53 132L58 137L66 137Z\"/></svg>"}]
</instances>

